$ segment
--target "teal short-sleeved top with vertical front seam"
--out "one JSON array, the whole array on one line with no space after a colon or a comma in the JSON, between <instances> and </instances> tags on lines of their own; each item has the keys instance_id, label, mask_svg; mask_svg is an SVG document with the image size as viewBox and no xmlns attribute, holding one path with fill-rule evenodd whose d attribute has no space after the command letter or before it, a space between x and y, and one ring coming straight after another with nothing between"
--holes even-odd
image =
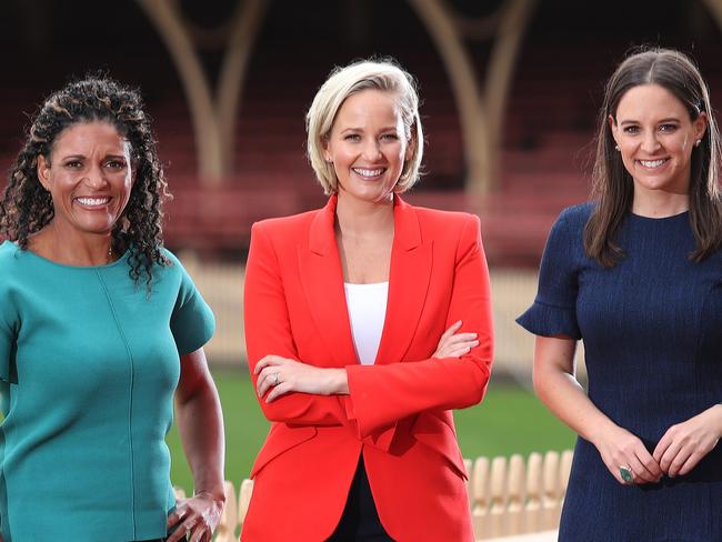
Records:
<instances>
[{"instance_id":1,"label":"teal short-sleeved top with vertical front seam","mask_svg":"<svg viewBox=\"0 0 722 542\"><path fill-rule=\"evenodd\" d=\"M164 442L180 355L213 314L178 259L152 292L109 265L0 245L0 532L4 542L166 535L174 506Z\"/></svg>"}]
</instances>

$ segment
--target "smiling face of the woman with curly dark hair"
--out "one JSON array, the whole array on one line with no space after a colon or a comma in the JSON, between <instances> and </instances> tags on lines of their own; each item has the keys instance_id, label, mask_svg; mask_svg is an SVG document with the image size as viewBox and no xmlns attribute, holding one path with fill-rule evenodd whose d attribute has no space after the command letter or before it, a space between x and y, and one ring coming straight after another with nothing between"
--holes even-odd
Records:
<instances>
[{"instance_id":1,"label":"smiling face of the woman with curly dark hair","mask_svg":"<svg viewBox=\"0 0 722 542\"><path fill-rule=\"evenodd\" d=\"M130 143L104 121L72 124L49 161L38 157L38 178L52 195L56 227L110 233L133 185Z\"/></svg>"}]
</instances>

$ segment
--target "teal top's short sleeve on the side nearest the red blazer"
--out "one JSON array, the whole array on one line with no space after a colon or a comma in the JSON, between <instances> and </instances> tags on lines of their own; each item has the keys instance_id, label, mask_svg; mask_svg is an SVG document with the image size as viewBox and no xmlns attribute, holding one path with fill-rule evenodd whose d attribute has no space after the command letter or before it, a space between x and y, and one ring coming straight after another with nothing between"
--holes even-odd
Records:
<instances>
[{"instance_id":1,"label":"teal top's short sleeve on the side nearest the red blazer","mask_svg":"<svg viewBox=\"0 0 722 542\"><path fill-rule=\"evenodd\" d=\"M180 271L181 281L170 329L178 353L185 355L201 348L213 337L215 318L183 265L177 258L171 259Z\"/></svg>"}]
</instances>

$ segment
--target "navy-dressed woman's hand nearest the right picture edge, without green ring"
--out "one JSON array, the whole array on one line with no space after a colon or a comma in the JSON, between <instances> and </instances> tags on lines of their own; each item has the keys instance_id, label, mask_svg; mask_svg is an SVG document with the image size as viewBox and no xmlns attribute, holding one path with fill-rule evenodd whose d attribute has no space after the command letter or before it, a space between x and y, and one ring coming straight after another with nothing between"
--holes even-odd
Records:
<instances>
[{"instance_id":1,"label":"navy-dressed woman's hand nearest the right picture edge, without green ring","mask_svg":"<svg viewBox=\"0 0 722 542\"><path fill-rule=\"evenodd\" d=\"M722 436L722 404L688 421L672 425L654 449L654 459L670 478L684 475L696 466Z\"/></svg>"}]
</instances>

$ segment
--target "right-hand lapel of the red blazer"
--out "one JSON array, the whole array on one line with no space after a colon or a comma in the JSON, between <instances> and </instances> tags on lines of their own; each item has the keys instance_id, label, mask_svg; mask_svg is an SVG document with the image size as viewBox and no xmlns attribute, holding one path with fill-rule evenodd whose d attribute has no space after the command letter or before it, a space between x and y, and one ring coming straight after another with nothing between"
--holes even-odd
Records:
<instances>
[{"instance_id":1,"label":"right-hand lapel of the red blazer","mask_svg":"<svg viewBox=\"0 0 722 542\"><path fill-rule=\"evenodd\" d=\"M413 207L394 195L389 299L375 362L401 361L415 334L431 278L432 242L422 243Z\"/></svg>"}]
</instances>

